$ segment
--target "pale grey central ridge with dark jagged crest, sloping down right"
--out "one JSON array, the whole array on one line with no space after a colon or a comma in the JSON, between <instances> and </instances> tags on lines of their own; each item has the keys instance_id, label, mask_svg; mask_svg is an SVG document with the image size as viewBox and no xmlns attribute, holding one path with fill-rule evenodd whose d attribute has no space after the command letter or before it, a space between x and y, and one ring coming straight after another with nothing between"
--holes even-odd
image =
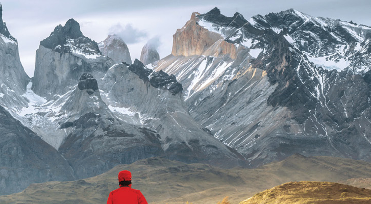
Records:
<instances>
[{"instance_id":1,"label":"pale grey central ridge with dark jagged crest, sloping down right","mask_svg":"<svg viewBox=\"0 0 371 204\"><path fill-rule=\"evenodd\" d=\"M103 81L106 86L102 92L108 93L112 106L130 107L130 111L139 113L141 125L158 134L167 158L223 167L243 162L193 120L184 104L182 86L174 76L146 69L136 59L129 67L112 66ZM220 159L225 162L216 162Z\"/></svg>"}]
</instances>

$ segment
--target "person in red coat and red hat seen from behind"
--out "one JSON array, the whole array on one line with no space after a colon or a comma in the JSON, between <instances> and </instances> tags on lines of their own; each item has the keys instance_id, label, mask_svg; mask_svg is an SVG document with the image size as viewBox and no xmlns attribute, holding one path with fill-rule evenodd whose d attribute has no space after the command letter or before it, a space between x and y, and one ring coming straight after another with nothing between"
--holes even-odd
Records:
<instances>
[{"instance_id":1,"label":"person in red coat and red hat seen from behind","mask_svg":"<svg viewBox=\"0 0 371 204\"><path fill-rule=\"evenodd\" d=\"M109 193L107 204L148 204L139 190L131 188L130 171L120 171L118 183L120 187Z\"/></svg>"}]
</instances>

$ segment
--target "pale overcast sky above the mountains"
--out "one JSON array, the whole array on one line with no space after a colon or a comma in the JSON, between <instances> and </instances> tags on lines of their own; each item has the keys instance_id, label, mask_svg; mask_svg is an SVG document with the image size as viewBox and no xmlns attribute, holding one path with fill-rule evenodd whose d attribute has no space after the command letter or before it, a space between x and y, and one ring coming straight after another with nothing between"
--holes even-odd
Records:
<instances>
[{"instance_id":1,"label":"pale overcast sky above the mountains","mask_svg":"<svg viewBox=\"0 0 371 204\"><path fill-rule=\"evenodd\" d=\"M370 0L3 0L1 4L3 20L18 40L21 62L29 76L33 76L40 41L70 18L96 42L112 32L121 34L133 61L139 59L148 40L158 46L160 58L169 55L173 34L191 13L206 13L215 6L226 16L237 11L245 19L293 8L311 16L371 26Z\"/></svg>"}]
</instances>

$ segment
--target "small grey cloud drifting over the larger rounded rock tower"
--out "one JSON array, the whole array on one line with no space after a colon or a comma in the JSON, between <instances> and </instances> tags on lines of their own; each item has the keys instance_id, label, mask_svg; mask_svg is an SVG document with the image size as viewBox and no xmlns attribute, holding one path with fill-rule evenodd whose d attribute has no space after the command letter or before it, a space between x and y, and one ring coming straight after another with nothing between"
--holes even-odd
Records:
<instances>
[{"instance_id":1,"label":"small grey cloud drifting over the larger rounded rock tower","mask_svg":"<svg viewBox=\"0 0 371 204\"><path fill-rule=\"evenodd\" d=\"M116 34L120 36L126 44L140 42L148 35L146 32L134 28L131 24L126 24L125 26L116 24L109 29L109 34Z\"/></svg>"}]
</instances>

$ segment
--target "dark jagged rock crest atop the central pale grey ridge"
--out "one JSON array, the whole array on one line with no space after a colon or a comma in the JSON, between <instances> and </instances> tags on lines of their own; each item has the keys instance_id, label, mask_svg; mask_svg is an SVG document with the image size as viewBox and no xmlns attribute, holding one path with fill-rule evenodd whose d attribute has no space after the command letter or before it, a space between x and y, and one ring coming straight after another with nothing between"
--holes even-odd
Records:
<instances>
[{"instance_id":1,"label":"dark jagged rock crest atop the central pale grey ridge","mask_svg":"<svg viewBox=\"0 0 371 204\"><path fill-rule=\"evenodd\" d=\"M183 86L177 82L174 75L168 75L165 72L154 72L152 69L148 69L138 59L134 60L134 63L129 66L129 70L139 76L144 81L149 81L152 86L160 89L167 89L173 95L181 93Z\"/></svg>"}]
</instances>

